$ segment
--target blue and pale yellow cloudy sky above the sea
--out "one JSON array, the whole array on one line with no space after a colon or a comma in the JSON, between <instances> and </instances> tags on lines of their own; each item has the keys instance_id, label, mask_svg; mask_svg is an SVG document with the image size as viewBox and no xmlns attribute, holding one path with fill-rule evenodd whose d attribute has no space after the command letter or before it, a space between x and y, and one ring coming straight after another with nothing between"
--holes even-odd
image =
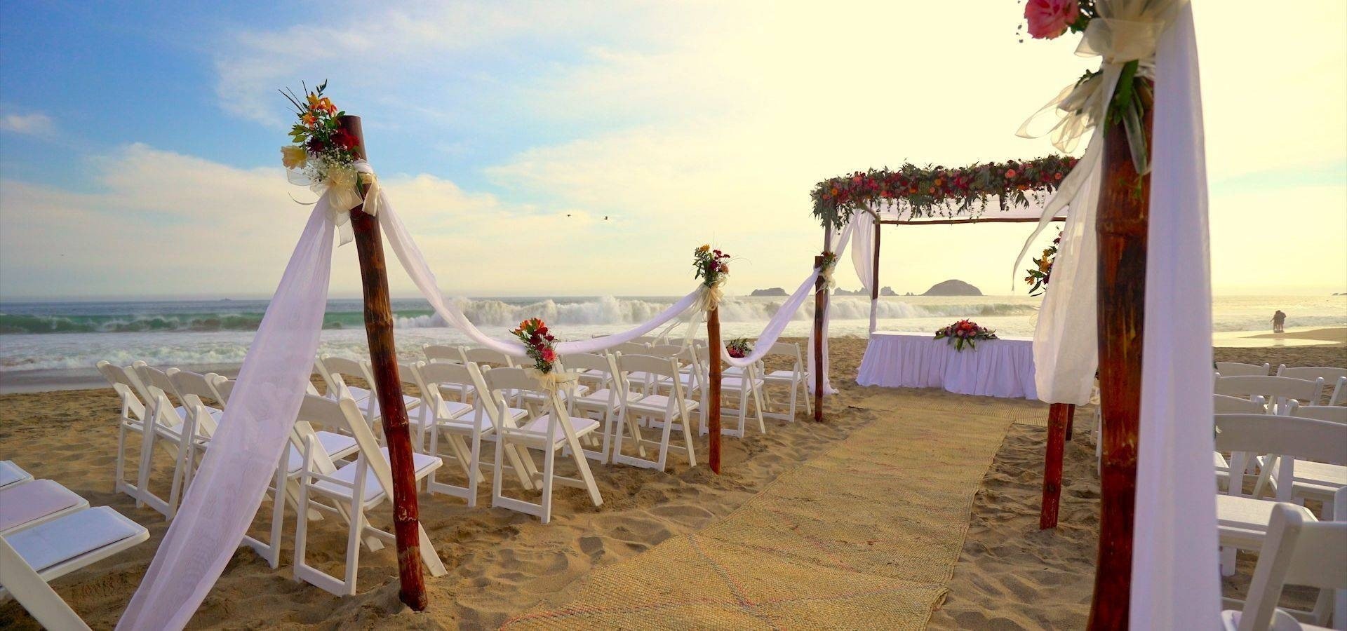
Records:
<instances>
[{"instance_id":1,"label":"blue and pale yellow cloudy sky above the sea","mask_svg":"<svg viewBox=\"0 0 1347 631\"><path fill-rule=\"evenodd\" d=\"M0 300L269 296L313 198L276 89L323 79L450 295L682 295L703 242L789 288L815 183L1051 153L1016 129L1098 66L1013 0L176 4L5 3ZM1347 3L1297 7L1193 0L1218 295L1347 291ZM1022 295L1030 230L886 227L880 284Z\"/></svg>"}]
</instances>

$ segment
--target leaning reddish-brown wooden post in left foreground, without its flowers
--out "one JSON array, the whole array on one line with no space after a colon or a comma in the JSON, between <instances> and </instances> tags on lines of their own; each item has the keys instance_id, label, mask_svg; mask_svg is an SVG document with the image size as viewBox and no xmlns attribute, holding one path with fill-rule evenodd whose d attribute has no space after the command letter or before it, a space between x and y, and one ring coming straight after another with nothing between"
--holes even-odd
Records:
<instances>
[{"instance_id":1,"label":"leaning reddish-brown wooden post in left foreground, without its flowers","mask_svg":"<svg viewBox=\"0 0 1347 631\"><path fill-rule=\"evenodd\" d=\"M356 155L365 159L365 135L358 116L341 117L341 125L356 136ZM372 386L379 393L384 437L388 441L388 464L393 474L393 534L397 538L399 597L407 607L426 609L426 579L420 560L419 509L416 475L412 466L412 441L407 431L407 406L403 382L397 375L397 350L393 346L393 309L388 297L384 272L384 239L379 221L365 214L364 205L352 209L350 223L356 231L360 279L365 292L365 335L369 339L369 362L374 370Z\"/></svg>"}]
</instances>

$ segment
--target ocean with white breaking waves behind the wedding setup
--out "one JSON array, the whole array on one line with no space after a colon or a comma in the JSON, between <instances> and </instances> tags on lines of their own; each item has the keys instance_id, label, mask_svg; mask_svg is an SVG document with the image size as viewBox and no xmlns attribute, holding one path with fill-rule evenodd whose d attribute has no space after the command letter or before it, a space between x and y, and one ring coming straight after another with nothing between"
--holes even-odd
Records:
<instances>
[{"instance_id":1,"label":"ocean with white breaking waves behind the wedding setup","mask_svg":"<svg viewBox=\"0 0 1347 631\"><path fill-rule=\"evenodd\" d=\"M512 297L458 299L489 335L506 338L525 318L541 318L562 339L610 334L649 319L676 297ZM777 311L781 297L726 299L722 335L756 336ZM880 328L933 331L971 318L1006 335L1033 335L1040 299L1028 296L890 296L880 301ZM869 299L831 297L834 336L865 336ZM319 352L360 357L366 352L358 299L327 301ZM1286 327L1347 326L1347 296L1218 296L1212 304L1219 332L1270 331L1273 311L1286 312ZM89 387L101 385L94 365L145 361L193 370L236 370L267 309L265 300L53 301L0 303L0 392ZM787 336L804 336L812 300L795 313ZM470 343L447 328L424 300L393 300L397 350L420 357L423 344Z\"/></svg>"}]
</instances>

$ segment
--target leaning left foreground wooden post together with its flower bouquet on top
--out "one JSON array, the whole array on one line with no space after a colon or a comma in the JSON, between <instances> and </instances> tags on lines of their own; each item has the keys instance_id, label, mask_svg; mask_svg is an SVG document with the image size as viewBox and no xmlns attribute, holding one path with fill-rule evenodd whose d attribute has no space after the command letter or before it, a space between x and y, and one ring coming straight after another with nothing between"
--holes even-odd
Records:
<instances>
[{"instance_id":1,"label":"leaning left foreground wooden post together with its flower bouquet on top","mask_svg":"<svg viewBox=\"0 0 1347 631\"><path fill-rule=\"evenodd\" d=\"M365 195L376 186L372 175L357 174L353 164L365 160L365 139L360 117L338 112L323 96L327 82L300 100L284 93L296 108L299 122L291 128L294 145L282 149L284 165L303 171L315 186L323 184L329 195L357 195L353 206L339 202L333 207L350 209L356 252L360 260L361 289L365 297L365 335L373 369L374 392L388 443L388 464L393 488L393 535L397 546L399 599L416 611L427 607L424 568L420 557L420 522L416 503L416 475L412 443L403 402L401 378L397 374L397 350L393 343L393 312L388 293L384 245L379 222L366 213ZM349 192L346 192L349 190ZM370 205L373 206L373 205ZM345 237L343 237L345 239ZM300 517L303 518L303 517Z\"/></svg>"}]
</instances>

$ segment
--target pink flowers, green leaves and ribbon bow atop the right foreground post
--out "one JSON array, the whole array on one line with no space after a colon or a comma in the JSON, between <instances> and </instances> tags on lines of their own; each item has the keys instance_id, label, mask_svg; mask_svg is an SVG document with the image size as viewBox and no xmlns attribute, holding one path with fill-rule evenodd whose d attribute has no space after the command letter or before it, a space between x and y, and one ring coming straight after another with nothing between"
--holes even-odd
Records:
<instances>
[{"instance_id":1,"label":"pink flowers, green leaves and ribbon bow atop the right foreground post","mask_svg":"<svg viewBox=\"0 0 1347 631\"><path fill-rule=\"evenodd\" d=\"M1153 63L1149 59L1130 59L1117 67L1117 85L1105 86L1105 69L1109 61L1119 51L1127 57L1136 57L1137 47L1144 39L1154 39L1156 34L1164 31L1164 24L1173 19L1181 1L1158 0L1146 3L1117 3L1110 0L1028 0L1024 5L1025 24L1029 36L1033 39L1056 39L1067 31L1084 34L1082 50L1105 57L1105 66L1099 70L1088 70L1075 85L1063 90L1063 96L1049 104L1051 109L1057 109L1075 118L1070 125L1068 120L1059 122L1053 129L1056 136L1053 144L1063 151L1071 151L1075 139L1094 126L1099 121L1099 100L1105 90L1113 89L1113 98L1107 104L1106 121L1121 124L1127 132L1127 145L1131 152L1131 161L1137 174L1145 175L1150 171L1146 151L1146 135L1144 120L1146 110L1154 102L1154 89L1152 83ZM1136 15L1119 15L1122 12ZM1091 22L1099 20L1099 28L1091 28ZM1022 39L1021 39L1022 42ZM1150 46L1154 46L1152 42ZM1153 54L1153 51L1152 51ZM1049 108L1044 108L1048 110Z\"/></svg>"}]
</instances>

